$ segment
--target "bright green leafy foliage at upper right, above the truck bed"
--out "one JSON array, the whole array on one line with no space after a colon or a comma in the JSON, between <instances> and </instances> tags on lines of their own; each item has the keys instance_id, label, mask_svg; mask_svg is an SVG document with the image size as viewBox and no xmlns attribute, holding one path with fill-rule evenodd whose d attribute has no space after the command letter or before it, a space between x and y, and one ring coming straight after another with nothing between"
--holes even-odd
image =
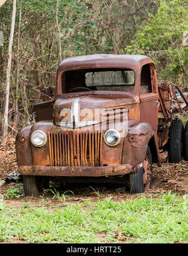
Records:
<instances>
[{"instance_id":1,"label":"bright green leafy foliage at upper right, above the truck bed","mask_svg":"<svg viewBox=\"0 0 188 256\"><path fill-rule=\"evenodd\" d=\"M149 55L157 65L160 79L185 85L187 78L187 48L182 46L182 37L187 29L187 1L160 0L156 14L140 28L134 40L125 48L127 53ZM183 79L182 79L183 76Z\"/></svg>"}]
</instances>

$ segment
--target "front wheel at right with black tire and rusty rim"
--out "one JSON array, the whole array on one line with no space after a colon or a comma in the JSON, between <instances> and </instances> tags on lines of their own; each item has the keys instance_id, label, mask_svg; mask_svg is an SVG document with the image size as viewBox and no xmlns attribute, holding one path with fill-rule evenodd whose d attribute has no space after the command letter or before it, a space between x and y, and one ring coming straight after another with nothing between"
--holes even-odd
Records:
<instances>
[{"instance_id":1,"label":"front wheel at right with black tire and rusty rim","mask_svg":"<svg viewBox=\"0 0 188 256\"><path fill-rule=\"evenodd\" d=\"M145 154L143 166L135 173L130 173L130 193L144 193L152 186L152 154L149 146Z\"/></svg>"}]
</instances>

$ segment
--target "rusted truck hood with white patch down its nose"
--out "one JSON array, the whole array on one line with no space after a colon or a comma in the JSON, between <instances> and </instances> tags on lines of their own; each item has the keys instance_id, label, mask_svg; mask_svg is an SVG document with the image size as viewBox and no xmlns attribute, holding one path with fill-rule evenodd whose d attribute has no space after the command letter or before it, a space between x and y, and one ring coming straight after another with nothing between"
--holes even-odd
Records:
<instances>
[{"instance_id":1,"label":"rusted truck hood with white patch down its nose","mask_svg":"<svg viewBox=\"0 0 188 256\"><path fill-rule=\"evenodd\" d=\"M137 103L137 100L135 95L125 95L125 93L123 95L92 94L58 99L54 104L55 124L62 124L62 120L67 128L73 128L72 122L79 122L80 127L97 124L96 115L98 117L105 112L108 114L108 119L112 119L113 112L130 108Z\"/></svg>"}]
</instances>

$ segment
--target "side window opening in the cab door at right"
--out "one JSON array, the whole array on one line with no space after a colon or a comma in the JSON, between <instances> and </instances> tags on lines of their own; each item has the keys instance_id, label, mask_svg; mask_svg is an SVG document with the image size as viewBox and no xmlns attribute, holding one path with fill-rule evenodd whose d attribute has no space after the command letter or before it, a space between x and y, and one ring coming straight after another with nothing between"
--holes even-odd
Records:
<instances>
[{"instance_id":1,"label":"side window opening in the cab door at right","mask_svg":"<svg viewBox=\"0 0 188 256\"><path fill-rule=\"evenodd\" d=\"M140 84L140 94L152 92L152 81L150 73L150 65L144 65L141 71L141 84Z\"/></svg>"}]
</instances>

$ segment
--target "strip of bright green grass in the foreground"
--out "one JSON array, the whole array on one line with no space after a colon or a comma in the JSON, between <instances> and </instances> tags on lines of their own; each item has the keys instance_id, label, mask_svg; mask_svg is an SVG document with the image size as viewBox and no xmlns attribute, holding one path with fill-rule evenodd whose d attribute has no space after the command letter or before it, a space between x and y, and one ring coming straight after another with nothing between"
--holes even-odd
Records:
<instances>
[{"instance_id":1,"label":"strip of bright green grass in the foreground","mask_svg":"<svg viewBox=\"0 0 188 256\"><path fill-rule=\"evenodd\" d=\"M187 199L171 195L117 203L66 203L63 208L0 203L0 241L29 243L188 242ZM121 241L122 242L122 241Z\"/></svg>"}]
</instances>

